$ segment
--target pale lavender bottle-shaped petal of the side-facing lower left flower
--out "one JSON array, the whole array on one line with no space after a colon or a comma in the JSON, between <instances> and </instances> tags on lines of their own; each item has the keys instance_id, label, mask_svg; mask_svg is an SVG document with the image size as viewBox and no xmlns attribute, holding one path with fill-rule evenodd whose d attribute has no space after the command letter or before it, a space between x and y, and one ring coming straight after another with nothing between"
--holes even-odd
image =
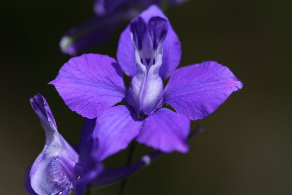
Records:
<instances>
[{"instance_id":1,"label":"pale lavender bottle-shaped petal of the side-facing lower left flower","mask_svg":"<svg viewBox=\"0 0 292 195\"><path fill-rule=\"evenodd\" d=\"M46 144L30 170L32 189L37 194L67 194L74 190L82 161L59 134L48 103L40 94L30 99L46 132Z\"/></svg>"}]
</instances>

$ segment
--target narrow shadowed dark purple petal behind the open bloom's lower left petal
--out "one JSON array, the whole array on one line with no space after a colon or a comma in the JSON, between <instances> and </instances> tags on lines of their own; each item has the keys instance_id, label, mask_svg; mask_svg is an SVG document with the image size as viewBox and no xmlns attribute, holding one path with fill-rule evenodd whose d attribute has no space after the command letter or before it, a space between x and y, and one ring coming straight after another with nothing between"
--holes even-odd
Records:
<instances>
[{"instance_id":1,"label":"narrow shadowed dark purple petal behind the open bloom's lower left petal","mask_svg":"<svg viewBox=\"0 0 292 195\"><path fill-rule=\"evenodd\" d=\"M94 119L88 119L85 118L84 124L82 127L82 132L81 132L81 137L79 141L79 146L78 146L78 153L82 160L85 160L85 157L88 153L89 150L89 139L92 137L92 132L95 127L95 121L96 118Z\"/></svg>"}]
</instances>

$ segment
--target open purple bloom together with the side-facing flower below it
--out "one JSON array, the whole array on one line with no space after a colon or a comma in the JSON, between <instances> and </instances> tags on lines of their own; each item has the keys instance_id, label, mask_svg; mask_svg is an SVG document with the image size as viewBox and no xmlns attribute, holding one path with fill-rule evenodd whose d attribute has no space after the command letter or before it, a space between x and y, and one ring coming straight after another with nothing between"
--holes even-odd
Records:
<instances>
[{"instance_id":1,"label":"open purple bloom together with the side-facing flower below it","mask_svg":"<svg viewBox=\"0 0 292 195\"><path fill-rule=\"evenodd\" d=\"M127 167L107 170L102 161L133 139L156 152L187 152L190 120L214 112L243 84L214 61L176 69L180 56L177 34L152 5L121 33L118 61L84 54L65 63L49 84L72 111L86 118L80 144L75 150L67 143L44 97L34 96L30 101L46 142L30 170L28 188L36 194L80 195L88 187L117 181L157 156L152 153ZM128 89L123 72L131 78Z\"/></svg>"}]
</instances>

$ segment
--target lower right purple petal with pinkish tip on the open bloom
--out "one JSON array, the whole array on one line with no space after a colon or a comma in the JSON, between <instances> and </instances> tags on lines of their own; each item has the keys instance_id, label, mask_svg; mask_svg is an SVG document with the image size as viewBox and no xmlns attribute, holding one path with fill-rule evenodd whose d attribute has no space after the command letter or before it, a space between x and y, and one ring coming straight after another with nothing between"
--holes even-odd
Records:
<instances>
[{"instance_id":1,"label":"lower right purple petal with pinkish tip on the open bloom","mask_svg":"<svg viewBox=\"0 0 292 195\"><path fill-rule=\"evenodd\" d=\"M190 120L167 108L160 108L145 118L137 141L163 152L187 152L186 142L190 132Z\"/></svg>"}]
</instances>

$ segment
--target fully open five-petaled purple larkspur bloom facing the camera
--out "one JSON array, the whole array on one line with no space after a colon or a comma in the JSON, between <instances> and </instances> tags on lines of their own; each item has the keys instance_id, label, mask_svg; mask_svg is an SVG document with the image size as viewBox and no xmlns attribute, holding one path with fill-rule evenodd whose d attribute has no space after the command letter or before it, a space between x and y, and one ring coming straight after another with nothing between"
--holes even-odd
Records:
<instances>
[{"instance_id":1,"label":"fully open five-petaled purple larkspur bloom facing the camera","mask_svg":"<svg viewBox=\"0 0 292 195\"><path fill-rule=\"evenodd\" d=\"M168 19L155 5L121 33L114 58L84 54L71 58L50 82L72 111L96 118L93 137L100 160L132 139L163 152L187 152L190 120L215 111L243 84L225 66L207 61L177 68L181 47ZM127 90L122 70L132 78ZM163 88L163 80L170 77ZM127 101L129 105L115 104ZM163 108L167 103L176 112Z\"/></svg>"}]
</instances>

